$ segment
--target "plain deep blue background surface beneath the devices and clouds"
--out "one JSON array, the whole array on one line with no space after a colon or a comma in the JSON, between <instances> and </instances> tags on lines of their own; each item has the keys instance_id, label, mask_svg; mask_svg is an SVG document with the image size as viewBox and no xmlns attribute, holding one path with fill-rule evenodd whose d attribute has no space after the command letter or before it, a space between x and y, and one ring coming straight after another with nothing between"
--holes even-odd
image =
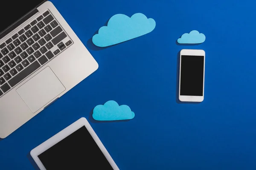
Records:
<instances>
[{"instance_id":1,"label":"plain deep blue background surface beneath the devices and clouds","mask_svg":"<svg viewBox=\"0 0 256 170\"><path fill-rule=\"evenodd\" d=\"M121 170L256 169L253 0L52 0L99 63L99 69L0 141L0 169L33 170L29 152L86 117ZM154 18L151 33L99 50L95 31L114 14ZM198 30L206 41L180 46ZM206 51L205 99L177 102L177 55ZM135 118L99 123L92 109L108 100L128 105ZM89 146L88 146L89 147Z\"/></svg>"}]
</instances>

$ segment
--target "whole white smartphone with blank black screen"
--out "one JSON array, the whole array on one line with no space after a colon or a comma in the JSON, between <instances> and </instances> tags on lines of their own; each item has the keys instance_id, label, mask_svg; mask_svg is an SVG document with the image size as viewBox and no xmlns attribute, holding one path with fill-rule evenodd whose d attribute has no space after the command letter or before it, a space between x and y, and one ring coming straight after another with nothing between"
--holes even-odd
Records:
<instances>
[{"instance_id":1,"label":"whole white smartphone with blank black screen","mask_svg":"<svg viewBox=\"0 0 256 170\"><path fill-rule=\"evenodd\" d=\"M204 100L205 51L183 49L180 51L181 102L203 102Z\"/></svg>"}]
</instances>

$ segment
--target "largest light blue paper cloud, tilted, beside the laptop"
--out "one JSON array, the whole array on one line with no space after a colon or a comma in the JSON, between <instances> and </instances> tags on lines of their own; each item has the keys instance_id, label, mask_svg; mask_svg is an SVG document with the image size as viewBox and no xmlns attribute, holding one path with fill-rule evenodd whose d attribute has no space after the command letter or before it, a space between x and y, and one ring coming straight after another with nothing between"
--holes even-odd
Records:
<instances>
[{"instance_id":1,"label":"largest light blue paper cloud, tilted, beside the laptop","mask_svg":"<svg viewBox=\"0 0 256 170\"><path fill-rule=\"evenodd\" d=\"M152 18L141 13L134 14L131 18L116 14L110 18L108 26L99 29L92 41L98 47L107 47L148 34L155 26L156 22Z\"/></svg>"}]
</instances>

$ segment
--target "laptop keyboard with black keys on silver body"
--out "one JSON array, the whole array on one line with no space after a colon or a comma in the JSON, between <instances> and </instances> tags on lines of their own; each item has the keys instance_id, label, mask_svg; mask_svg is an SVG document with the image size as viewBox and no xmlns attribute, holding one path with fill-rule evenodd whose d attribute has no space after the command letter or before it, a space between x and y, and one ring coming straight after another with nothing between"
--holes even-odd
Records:
<instances>
[{"instance_id":1,"label":"laptop keyboard with black keys on silver body","mask_svg":"<svg viewBox=\"0 0 256 170\"><path fill-rule=\"evenodd\" d=\"M0 97L72 44L46 11L0 44Z\"/></svg>"}]
</instances>

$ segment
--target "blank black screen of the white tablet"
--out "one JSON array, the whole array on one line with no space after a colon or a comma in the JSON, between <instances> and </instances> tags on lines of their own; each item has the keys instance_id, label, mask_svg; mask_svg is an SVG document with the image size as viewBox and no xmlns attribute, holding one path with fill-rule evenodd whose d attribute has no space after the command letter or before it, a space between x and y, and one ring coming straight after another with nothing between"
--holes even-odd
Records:
<instances>
[{"instance_id":1,"label":"blank black screen of the white tablet","mask_svg":"<svg viewBox=\"0 0 256 170\"><path fill-rule=\"evenodd\" d=\"M47 170L113 170L85 126L38 158Z\"/></svg>"}]
</instances>

